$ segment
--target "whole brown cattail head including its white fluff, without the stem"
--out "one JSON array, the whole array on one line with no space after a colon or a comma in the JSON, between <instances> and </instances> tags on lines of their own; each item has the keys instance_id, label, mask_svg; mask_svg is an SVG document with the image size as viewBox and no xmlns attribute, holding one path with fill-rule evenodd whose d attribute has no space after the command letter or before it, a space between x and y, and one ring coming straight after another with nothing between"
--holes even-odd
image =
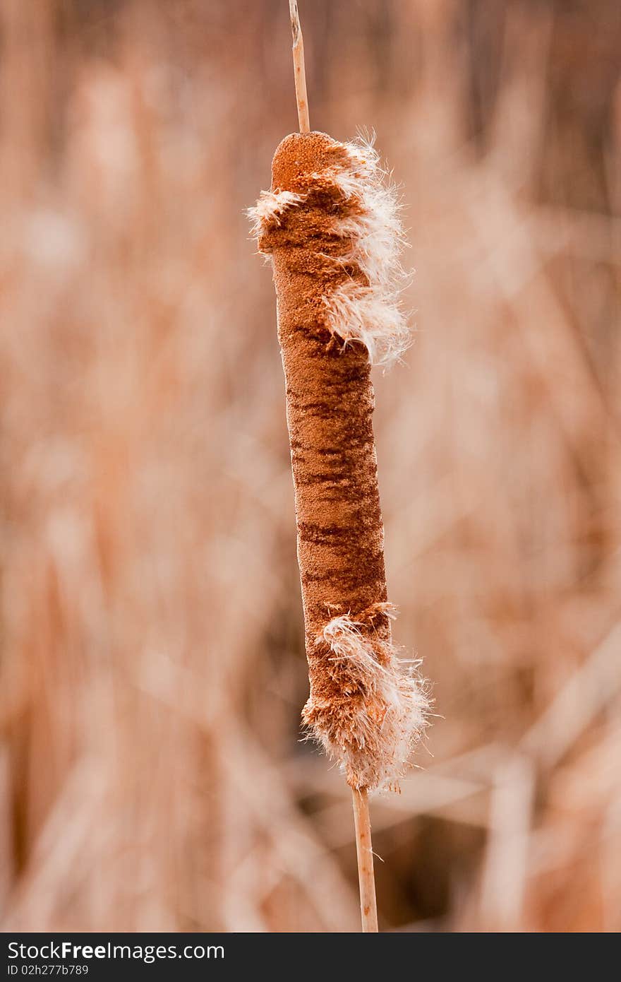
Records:
<instances>
[{"instance_id":1,"label":"whole brown cattail head including its white fluff, without the stem","mask_svg":"<svg viewBox=\"0 0 621 982\"><path fill-rule=\"evenodd\" d=\"M372 146L286 136L250 210L271 254L310 697L303 720L354 788L395 787L427 700L391 641L371 364L409 336L402 230Z\"/></svg>"}]
</instances>

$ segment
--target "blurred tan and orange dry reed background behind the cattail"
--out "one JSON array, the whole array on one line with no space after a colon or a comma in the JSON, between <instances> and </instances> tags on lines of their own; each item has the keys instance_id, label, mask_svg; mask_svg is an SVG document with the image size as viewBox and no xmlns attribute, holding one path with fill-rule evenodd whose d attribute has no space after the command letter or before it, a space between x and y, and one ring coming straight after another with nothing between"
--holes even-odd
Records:
<instances>
[{"instance_id":1,"label":"blurred tan and orange dry reed background behind the cattail","mask_svg":"<svg viewBox=\"0 0 621 982\"><path fill-rule=\"evenodd\" d=\"M0 5L5 930L357 930L306 698L284 384L243 209L285 0ZM397 640L381 926L621 929L621 7L300 0L416 268L377 382Z\"/></svg>"}]
</instances>

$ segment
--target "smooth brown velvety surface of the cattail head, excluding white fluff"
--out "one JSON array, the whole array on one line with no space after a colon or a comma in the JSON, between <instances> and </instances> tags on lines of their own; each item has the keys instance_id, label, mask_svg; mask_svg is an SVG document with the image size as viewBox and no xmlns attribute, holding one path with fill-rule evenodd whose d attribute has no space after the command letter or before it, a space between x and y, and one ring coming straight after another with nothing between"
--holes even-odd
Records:
<instances>
[{"instance_id":1,"label":"smooth brown velvety surface of the cattail head, excluding white fluff","mask_svg":"<svg viewBox=\"0 0 621 982\"><path fill-rule=\"evenodd\" d=\"M320 639L327 622L337 615L358 622L378 662L386 655L377 642L390 637L368 354L357 343L344 347L331 333L322 300L347 277L364 279L358 269L335 261L349 248L335 233L335 219L346 218L356 203L317 178L343 163L342 148L330 136L287 136L274 157L272 191L307 196L259 239L261 251L273 258L285 368L311 682L304 719L320 728L330 728L339 709L355 714L368 694L359 673L336 668L331 648Z\"/></svg>"}]
</instances>

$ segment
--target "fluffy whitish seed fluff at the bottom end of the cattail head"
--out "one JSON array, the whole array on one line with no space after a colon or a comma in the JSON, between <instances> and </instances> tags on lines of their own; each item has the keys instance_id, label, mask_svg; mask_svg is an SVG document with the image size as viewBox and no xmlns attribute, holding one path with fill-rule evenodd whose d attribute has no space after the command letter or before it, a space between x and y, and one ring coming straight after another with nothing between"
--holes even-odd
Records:
<instances>
[{"instance_id":1,"label":"fluffy whitish seed fluff at the bottom end of the cattail head","mask_svg":"<svg viewBox=\"0 0 621 982\"><path fill-rule=\"evenodd\" d=\"M355 713L330 733L323 732L321 739L356 787L398 790L399 778L425 729L429 702L416 671L419 663L401 661L391 641L370 638L361 628L359 622L341 615L329 621L318 637L318 643L330 646L338 676L342 678L345 670L352 685L365 693Z\"/></svg>"}]
</instances>

